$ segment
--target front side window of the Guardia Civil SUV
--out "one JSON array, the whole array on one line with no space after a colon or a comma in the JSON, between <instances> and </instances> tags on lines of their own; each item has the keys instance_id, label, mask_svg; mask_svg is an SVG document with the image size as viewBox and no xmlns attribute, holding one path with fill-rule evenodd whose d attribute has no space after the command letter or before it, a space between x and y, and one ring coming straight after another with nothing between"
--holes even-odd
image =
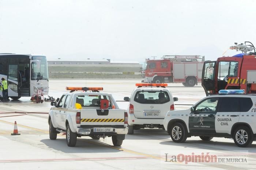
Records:
<instances>
[{"instance_id":1,"label":"front side window of the Guardia Civil SUV","mask_svg":"<svg viewBox=\"0 0 256 170\"><path fill-rule=\"evenodd\" d=\"M196 106L196 112L216 112L219 98L207 98Z\"/></svg>"}]
</instances>

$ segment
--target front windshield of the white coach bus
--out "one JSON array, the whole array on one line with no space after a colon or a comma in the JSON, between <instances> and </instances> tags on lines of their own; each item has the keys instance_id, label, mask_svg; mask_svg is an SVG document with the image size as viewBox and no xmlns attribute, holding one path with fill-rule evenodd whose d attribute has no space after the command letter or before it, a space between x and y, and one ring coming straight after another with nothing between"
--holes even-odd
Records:
<instances>
[{"instance_id":1,"label":"front windshield of the white coach bus","mask_svg":"<svg viewBox=\"0 0 256 170\"><path fill-rule=\"evenodd\" d=\"M48 67L45 56L33 56L32 60L39 60L40 66L37 62L31 63L31 80L48 80Z\"/></svg>"}]
</instances>

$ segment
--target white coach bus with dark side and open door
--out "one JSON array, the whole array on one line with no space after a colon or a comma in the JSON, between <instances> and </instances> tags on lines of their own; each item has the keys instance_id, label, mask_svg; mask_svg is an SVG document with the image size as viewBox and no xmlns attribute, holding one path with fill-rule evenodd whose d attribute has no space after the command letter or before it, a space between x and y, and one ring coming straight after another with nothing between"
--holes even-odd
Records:
<instances>
[{"instance_id":1,"label":"white coach bus with dark side and open door","mask_svg":"<svg viewBox=\"0 0 256 170\"><path fill-rule=\"evenodd\" d=\"M48 95L49 79L46 57L36 54L0 53L0 80L8 82L8 97L18 100L42 90ZM3 93L0 91L0 99Z\"/></svg>"}]
</instances>

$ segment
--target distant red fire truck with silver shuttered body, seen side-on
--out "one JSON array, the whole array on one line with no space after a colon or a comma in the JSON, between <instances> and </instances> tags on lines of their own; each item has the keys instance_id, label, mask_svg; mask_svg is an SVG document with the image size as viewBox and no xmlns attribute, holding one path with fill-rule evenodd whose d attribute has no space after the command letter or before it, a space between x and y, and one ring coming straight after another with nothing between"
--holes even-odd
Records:
<instances>
[{"instance_id":1,"label":"distant red fire truck with silver shuttered body, seen side-on","mask_svg":"<svg viewBox=\"0 0 256 170\"><path fill-rule=\"evenodd\" d=\"M202 80L204 56L164 55L161 59L146 59L142 67L142 82L182 82L195 86Z\"/></svg>"}]
</instances>

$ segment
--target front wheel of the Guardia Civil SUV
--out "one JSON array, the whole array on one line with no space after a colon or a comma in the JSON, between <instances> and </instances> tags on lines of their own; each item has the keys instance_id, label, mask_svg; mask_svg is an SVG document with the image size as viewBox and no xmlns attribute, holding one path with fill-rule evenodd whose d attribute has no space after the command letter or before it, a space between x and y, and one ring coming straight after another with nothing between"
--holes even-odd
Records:
<instances>
[{"instance_id":1,"label":"front wheel of the Guardia Civil SUV","mask_svg":"<svg viewBox=\"0 0 256 170\"><path fill-rule=\"evenodd\" d=\"M187 129L183 123L174 123L171 126L170 134L173 142L183 143L187 140Z\"/></svg>"}]
</instances>

